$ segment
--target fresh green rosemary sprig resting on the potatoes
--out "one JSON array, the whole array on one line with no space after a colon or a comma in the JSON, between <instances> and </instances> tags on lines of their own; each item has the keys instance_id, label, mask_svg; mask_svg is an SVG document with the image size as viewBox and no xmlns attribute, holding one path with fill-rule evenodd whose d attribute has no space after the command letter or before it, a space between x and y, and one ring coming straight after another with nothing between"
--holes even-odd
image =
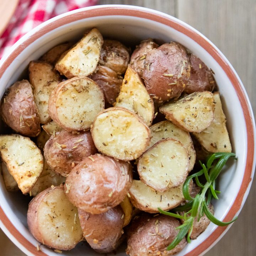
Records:
<instances>
[{"instance_id":1,"label":"fresh green rosemary sprig resting on the potatoes","mask_svg":"<svg viewBox=\"0 0 256 256\"><path fill-rule=\"evenodd\" d=\"M212 197L218 199L217 194L219 194L220 191L215 190L215 180L218 178L223 166L226 164L226 161L228 161L230 157L235 157L235 154L221 152L210 155L206 160L206 165L202 164L202 162L199 161L202 170L188 176L183 184L183 195L188 202L183 206L178 206L172 209L172 211L174 212L185 212L183 215L172 212L166 212L158 208L159 212L162 214L184 220L183 224L177 227L177 229L179 229L179 232L176 238L167 247L167 250L174 249L175 246L178 245L178 243L186 235L187 241L190 242L190 235L193 230L194 219L198 218L199 220L204 214L211 222L218 226L229 225L230 223L234 222L237 219L237 217L235 217L230 222L222 222L215 218L208 209L208 204L210 203ZM218 162L216 165L214 165L214 161L217 159ZM199 176L202 175L204 175L204 177L206 178L206 183L204 185L199 181L198 178ZM194 198L190 196L190 182L193 178L196 181L197 186L201 188L201 191Z\"/></svg>"}]
</instances>

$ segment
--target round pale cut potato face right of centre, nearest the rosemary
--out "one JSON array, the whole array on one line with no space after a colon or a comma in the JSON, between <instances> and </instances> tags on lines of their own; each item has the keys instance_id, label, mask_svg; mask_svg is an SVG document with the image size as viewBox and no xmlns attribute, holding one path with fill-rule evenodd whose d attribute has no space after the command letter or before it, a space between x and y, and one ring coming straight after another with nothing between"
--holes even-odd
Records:
<instances>
[{"instance_id":1,"label":"round pale cut potato face right of centre, nearest the rosemary","mask_svg":"<svg viewBox=\"0 0 256 256\"><path fill-rule=\"evenodd\" d=\"M187 149L178 140L160 140L138 161L140 180L156 191L164 192L182 184L190 161Z\"/></svg>"}]
</instances>

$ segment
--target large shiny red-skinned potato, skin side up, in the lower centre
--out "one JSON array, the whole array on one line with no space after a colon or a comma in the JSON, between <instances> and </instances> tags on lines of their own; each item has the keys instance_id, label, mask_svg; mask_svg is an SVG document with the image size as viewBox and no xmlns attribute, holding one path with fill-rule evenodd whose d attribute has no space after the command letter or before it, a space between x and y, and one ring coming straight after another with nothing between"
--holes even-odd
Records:
<instances>
[{"instance_id":1,"label":"large shiny red-skinned potato, skin side up, in the lower centre","mask_svg":"<svg viewBox=\"0 0 256 256\"><path fill-rule=\"evenodd\" d=\"M69 201L76 207L99 214L121 203L131 185L130 164L96 154L71 170L64 188Z\"/></svg>"}]
</instances>

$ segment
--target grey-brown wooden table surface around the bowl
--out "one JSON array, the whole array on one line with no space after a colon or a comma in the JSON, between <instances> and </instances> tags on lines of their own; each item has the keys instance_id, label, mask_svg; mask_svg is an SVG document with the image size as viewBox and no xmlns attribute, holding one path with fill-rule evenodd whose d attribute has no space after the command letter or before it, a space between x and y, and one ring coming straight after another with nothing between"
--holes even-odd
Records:
<instances>
[{"instance_id":1,"label":"grey-brown wooden table surface around the bowl","mask_svg":"<svg viewBox=\"0 0 256 256\"><path fill-rule=\"evenodd\" d=\"M166 12L208 37L240 76L256 113L255 0L99 0L99 4L128 4ZM256 179L238 220L206 256L256 255ZM0 230L2 256L23 254Z\"/></svg>"}]
</instances>

